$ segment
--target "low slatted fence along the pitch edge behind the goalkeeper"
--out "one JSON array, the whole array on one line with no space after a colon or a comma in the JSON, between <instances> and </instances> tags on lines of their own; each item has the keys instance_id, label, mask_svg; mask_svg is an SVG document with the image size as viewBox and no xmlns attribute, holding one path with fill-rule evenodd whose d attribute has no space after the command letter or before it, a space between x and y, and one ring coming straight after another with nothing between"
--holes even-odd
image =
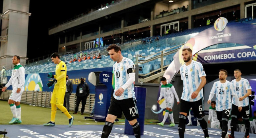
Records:
<instances>
[{"instance_id":1,"label":"low slatted fence along the pitch edge behind the goalkeeper","mask_svg":"<svg viewBox=\"0 0 256 138\"><path fill-rule=\"evenodd\" d=\"M21 103L29 104L32 106L41 107L51 107L51 97L53 92L43 92L43 91L24 91L21 95ZM11 90L6 90L6 92L0 91L0 100L8 100L12 94ZM74 93L71 94L69 98L69 109L75 109L76 96ZM84 112L90 113L92 111L95 101L95 94L89 94L86 100ZM81 104L79 104L78 110L81 110Z\"/></svg>"}]
</instances>

